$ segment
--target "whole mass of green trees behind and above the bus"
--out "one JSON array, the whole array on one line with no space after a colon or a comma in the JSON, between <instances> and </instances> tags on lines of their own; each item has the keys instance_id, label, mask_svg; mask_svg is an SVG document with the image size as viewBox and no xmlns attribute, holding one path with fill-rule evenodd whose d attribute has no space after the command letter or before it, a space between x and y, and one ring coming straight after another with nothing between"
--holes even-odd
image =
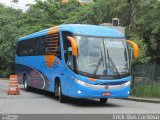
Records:
<instances>
[{"instance_id":1,"label":"whole mass of green trees behind and above the bus","mask_svg":"<svg viewBox=\"0 0 160 120\"><path fill-rule=\"evenodd\" d=\"M13 4L17 2L12 0ZM0 4L0 74L10 71L8 66L14 63L19 37L59 24L101 24L115 17L140 47L140 57L134 63L160 61L159 0L95 0L83 6L75 0L66 4L58 0L35 0L35 4L28 7L22 12Z\"/></svg>"}]
</instances>

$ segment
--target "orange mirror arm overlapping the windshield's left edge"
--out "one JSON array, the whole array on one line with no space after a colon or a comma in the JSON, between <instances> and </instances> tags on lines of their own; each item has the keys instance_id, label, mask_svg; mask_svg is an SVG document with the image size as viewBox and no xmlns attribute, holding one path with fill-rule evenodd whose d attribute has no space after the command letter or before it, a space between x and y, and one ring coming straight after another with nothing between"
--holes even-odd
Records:
<instances>
[{"instance_id":1,"label":"orange mirror arm overlapping the windshield's left edge","mask_svg":"<svg viewBox=\"0 0 160 120\"><path fill-rule=\"evenodd\" d=\"M67 39L70 41L72 46L72 55L77 56L77 43L73 37L67 36Z\"/></svg>"}]
</instances>

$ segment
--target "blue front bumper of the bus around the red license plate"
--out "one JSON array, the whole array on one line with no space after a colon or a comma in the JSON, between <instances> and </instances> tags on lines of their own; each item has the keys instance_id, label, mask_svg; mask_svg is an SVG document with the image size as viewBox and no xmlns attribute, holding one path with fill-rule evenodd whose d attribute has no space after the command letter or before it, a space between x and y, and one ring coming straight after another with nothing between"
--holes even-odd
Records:
<instances>
[{"instance_id":1,"label":"blue front bumper of the bus around the red license plate","mask_svg":"<svg viewBox=\"0 0 160 120\"><path fill-rule=\"evenodd\" d=\"M71 97L75 98L127 98L129 96L130 85L117 87L117 89L94 89L76 84ZM110 93L103 96L102 93Z\"/></svg>"}]
</instances>

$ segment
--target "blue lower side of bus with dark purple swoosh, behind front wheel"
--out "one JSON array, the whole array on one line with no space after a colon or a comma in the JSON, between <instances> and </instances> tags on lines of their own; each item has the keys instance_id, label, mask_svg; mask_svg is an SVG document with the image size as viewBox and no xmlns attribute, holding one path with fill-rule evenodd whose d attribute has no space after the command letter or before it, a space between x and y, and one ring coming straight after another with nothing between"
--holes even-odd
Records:
<instances>
[{"instance_id":1,"label":"blue lower side of bus with dark purple swoosh, behind front wheel","mask_svg":"<svg viewBox=\"0 0 160 120\"><path fill-rule=\"evenodd\" d=\"M31 87L54 92L55 78L61 80L62 61L56 57L52 67L46 65L44 56L16 56L16 72L19 83L23 83L23 75L28 77Z\"/></svg>"}]
</instances>

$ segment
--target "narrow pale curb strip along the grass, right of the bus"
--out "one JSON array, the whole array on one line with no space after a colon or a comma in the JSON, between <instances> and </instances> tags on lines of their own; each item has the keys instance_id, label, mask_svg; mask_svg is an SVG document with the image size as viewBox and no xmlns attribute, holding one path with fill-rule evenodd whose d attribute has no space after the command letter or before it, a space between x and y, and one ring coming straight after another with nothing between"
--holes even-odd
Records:
<instances>
[{"instance_id":1,"label":"narrow pale curb strip along the grass, right of the bus","mask_svg":"<svg viewBox=\"0 0 160 120\"><path fill-rule=\"evenodd\" d=\"M129 96L126 100L133 100L139 102L160 103L160 98L140 98Z\"/></svg>"}]
</instances>

